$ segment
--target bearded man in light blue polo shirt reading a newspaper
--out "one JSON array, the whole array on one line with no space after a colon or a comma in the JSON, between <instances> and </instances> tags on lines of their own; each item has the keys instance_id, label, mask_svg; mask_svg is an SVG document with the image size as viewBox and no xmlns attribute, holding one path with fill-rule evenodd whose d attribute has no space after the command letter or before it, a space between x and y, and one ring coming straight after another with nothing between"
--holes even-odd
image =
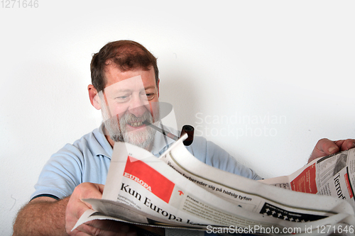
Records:
<instances>
[{"instance_id":1,"label":"bearded man in light blue polo shirt reading a newspaper","mask_svg":"<svg viewBox=\"0 0 355 236\"><path fill-rule=\"evenodd\" d=\"M159 96L156 59L142 45L121 40L108 43L93 56L92 106L102 110L104 124L73 145L53 154L40 174L35 193L18 213L14 235L133 235L129 225L110 220L93 220L72 227L91 208L82 198L101 198L114 142L131 142L159 156L172 142L143 123L160 119L155 106ZM310 157L354 147L355 140L320 140ZM187 148L213 167L250 179L261 179L237 163L224 150L202 137Z\"/></svg>"}]
</instances>

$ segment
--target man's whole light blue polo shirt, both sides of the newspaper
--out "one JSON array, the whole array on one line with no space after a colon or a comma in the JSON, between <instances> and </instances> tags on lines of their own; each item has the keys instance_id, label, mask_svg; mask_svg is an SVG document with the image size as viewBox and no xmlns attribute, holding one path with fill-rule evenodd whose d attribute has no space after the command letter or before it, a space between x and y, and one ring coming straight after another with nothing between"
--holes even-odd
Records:
<instances>
[{"instance_id":1,"label":"man's whole light blue polo shirt, both sides of the newspaper","mask_svg":"<svg viewBox=\"0 0 355 236\"><path fill-rule=\"evenodd\" d=\"M84 182L105 184L112 147L102 130L103 125L53 154L40 173L31 199L37 196L65 198L72 194L77 185ZM177 135L176 131L174 133ZM174 140L165 139L161 133L156 133L151 152L159 157L172 142ZM212 167L249 179L261 179L251 169L236 162L234 157L204 137L194 137L192 145L188 146L187 150Z\"/></svg>"}]
</instances>

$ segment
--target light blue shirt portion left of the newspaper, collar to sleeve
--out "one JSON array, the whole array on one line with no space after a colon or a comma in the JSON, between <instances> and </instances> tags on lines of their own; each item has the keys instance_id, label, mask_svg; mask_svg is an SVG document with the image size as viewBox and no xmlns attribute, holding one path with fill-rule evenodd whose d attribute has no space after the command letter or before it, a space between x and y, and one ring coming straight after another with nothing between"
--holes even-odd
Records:
<instances>
[{"instance_id":1,"label":"light blue shirt portion left of the newspaper, collar to sleeve","mask_svg":"<svg viewBox=\"0 0 355 236\"><path fill-rule=\"evenodd\" d=\"M66 144L48 159L32 197L45 194L64 198L82 182L104 184L111 159L110 149L100 128Z\"/></svg>"}]
</instances>

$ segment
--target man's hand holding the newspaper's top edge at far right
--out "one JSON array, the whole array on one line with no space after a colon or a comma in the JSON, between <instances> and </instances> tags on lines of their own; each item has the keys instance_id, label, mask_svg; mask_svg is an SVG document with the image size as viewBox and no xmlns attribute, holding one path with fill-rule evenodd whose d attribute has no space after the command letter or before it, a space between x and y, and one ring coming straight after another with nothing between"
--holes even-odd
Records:
<instances>
[{"instance_id":1,"label":"man's hand holding the newspaper's top edge at far right","mask_svg":"<svg viewBox=\"0 0 355 236\"><path fill-rule=\"evenodd\" d=\"M313 150L308 163L312 160L317 159L318 157L324 157L329 154L334 154L340 151L349 150L350 148L355 147L355 140L337 140L332 141L327 138L323 138L317 142L315 149Z\"/></svg>"}]
</instances>

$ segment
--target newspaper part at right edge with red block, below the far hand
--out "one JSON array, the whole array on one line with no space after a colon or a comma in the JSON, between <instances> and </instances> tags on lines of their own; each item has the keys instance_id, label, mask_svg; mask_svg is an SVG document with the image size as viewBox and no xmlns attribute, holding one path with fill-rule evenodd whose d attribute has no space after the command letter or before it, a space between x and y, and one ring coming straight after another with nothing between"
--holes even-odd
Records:
<instances>
[{"instance_id":1,"label":"newspaper part at right edge with red block, below the far hand","mask_svg":"<svg viewBox=\"0 0 355 236\"><path fill-rule=\"evenodd\" d=\"M302 193L344 199L355 209L355 148L313 160L289 176L261 182Z\"/></svg>"}]
</instances>

